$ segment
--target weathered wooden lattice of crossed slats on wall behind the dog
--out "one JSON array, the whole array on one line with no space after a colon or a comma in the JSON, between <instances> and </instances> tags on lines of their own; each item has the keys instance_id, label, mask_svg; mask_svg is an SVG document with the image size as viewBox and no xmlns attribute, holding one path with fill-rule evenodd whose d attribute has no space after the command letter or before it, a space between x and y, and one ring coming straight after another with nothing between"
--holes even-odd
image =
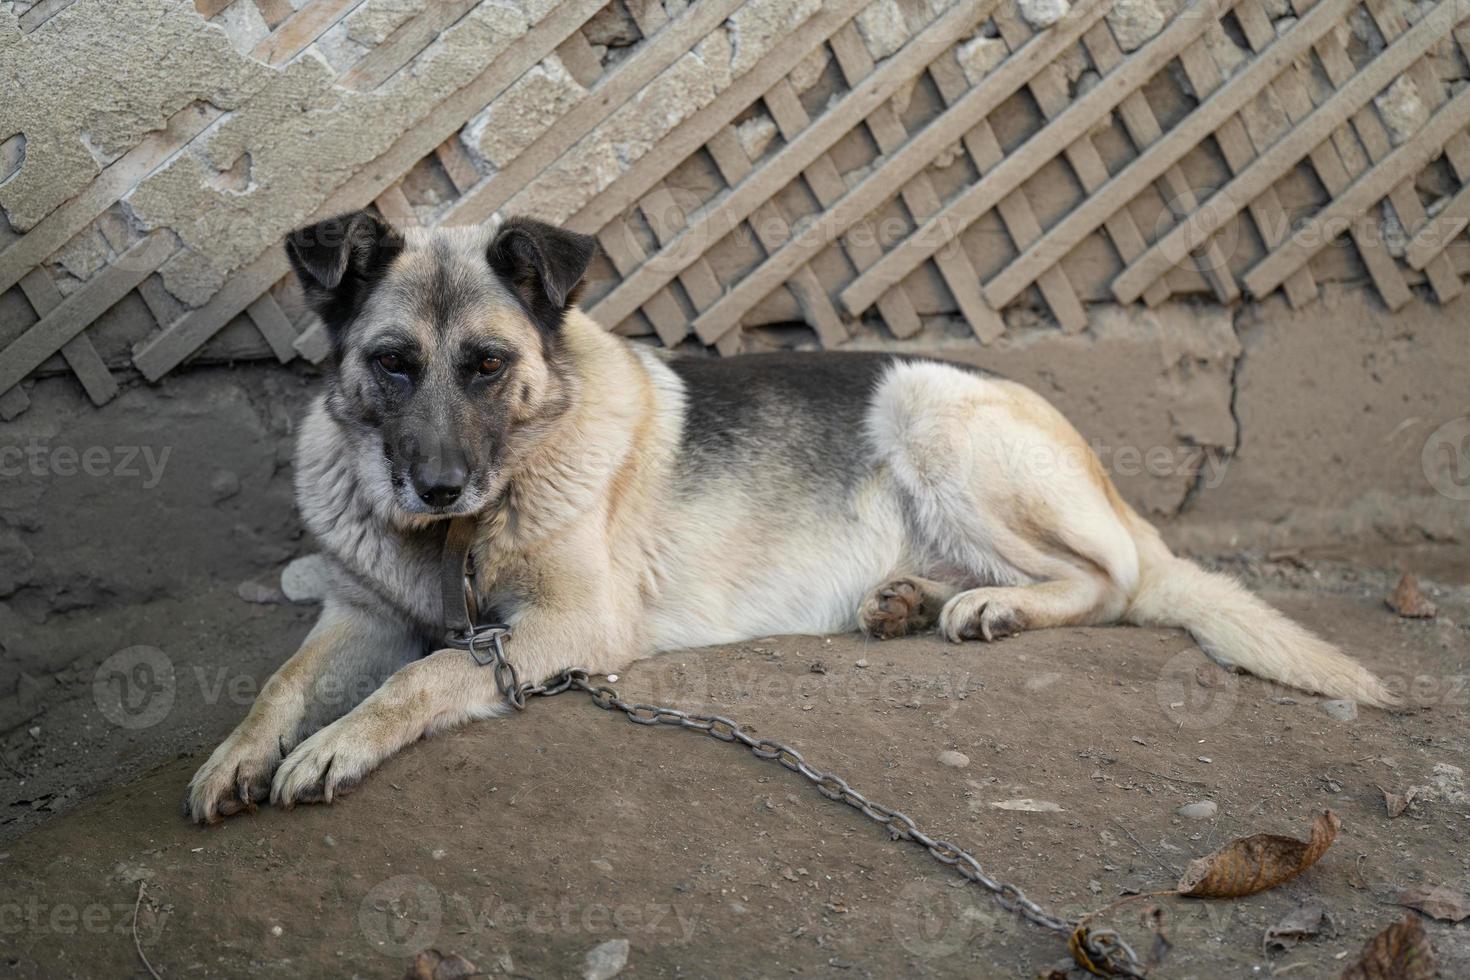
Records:
<instances>
[{"instance_id":1,"label":"weathered wooden lattice of crossed slats on wall behind the dog","mask_svg":"<svg viewBox=\"0 0 1470 980\"><path fill-rule=\"evenodd\" d=\"M72 3L13 4L12 43L63 31ZM241 57L281 68L372 3L194 7L200 29L213 18ZM332 84L412 94L419 60L479 6L420 4L376 44L326 59ZM1458 0L1195 0L1173 13L1080 0L1041 29L1014 0L829 0L786 4L791 22L760 44L738 24L751 0L522 6L516 41L375 159L301 215L250 217L281 222L268 228L278 239L303 217L365 206L400 225L550 210L603 245L592 316L723 354L748 345L751 325L784 320L836 347L863 317L908 338L953 313L988 344L1011 307L1044 307L1078 332L1097 301L1282 289L1299 307L1323 279L1366 276L1396 309L1416 287L1439 303L1463 288L1470 9ZM1150 12L1157 24L1141 32ZM731 32L728 76L694 96L669 88L731 24L747 34ZM539 134L487 160L484 113L516 110L497 100L532 76L576 97L545 101ZM25 97L22 82L47 79L10 78L6 98ZM157 381L191 357L326 356L278 247L181 301L169 263L200 245L129 207L231 112L188 101L38 220L0 222L6 419L37 373L69 370L103 404L119 372ZM0 190L26 157L26 135L3 119ZM639 140L617 143L634 123ZM238 159L245 173L248 153ZM603 159L600 175L569 184ZM98 259L78 260L78 241Z\"/></svg>"}]
</instances>

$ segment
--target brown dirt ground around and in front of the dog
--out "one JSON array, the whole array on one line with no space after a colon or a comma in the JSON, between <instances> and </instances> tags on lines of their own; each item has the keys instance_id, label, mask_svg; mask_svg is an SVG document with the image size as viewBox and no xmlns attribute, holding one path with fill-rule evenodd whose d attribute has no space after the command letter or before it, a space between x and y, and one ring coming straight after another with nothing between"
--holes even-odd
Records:
<instances>
[{"instance_id":1,"label":"brown dirt ground around and in front of the dog","mask_svg":"<svg viewBox=\"0 0 1470 980\"><path fill-rule=\"evenodd\" d=\"M1457 776L1470 560L1274 558L1216 564L1405 685L1410 710L1341 721L1225 674L1182 633L1142 629L995 646L770 638L664 655L616 686L789 742L1064 915L1167 887L1236 835L1305 836L1330 807L1342 833L1301 877L1242 901L1164 899L1175 949L1155 976L1336 977L1402 914L1401 889L1470 882ZM1385 608L1389 566L1405 561L1438 619ZM57 644L115 630L168 651L126 674L168 707L119 714L94 692L88 670L113 652L101 644L78 661L76 699L3 746L0 973L146 976L140 883L137 936L163 977L398 977L425 946L494 976L581 976L609 940L628 942L629 977L1032 977L1066 956L1063 937L794 773L631 726L585 695L420 742L332 807L188 824L190 773L310 619L223 591L57 626ZM220 645L235 666L204 669ZM941 763L951 749L967 763ZM1391 818L1382 789L1410 786L1419 798ZM1176 814L1201 801L1214 817ZM1304 904L1330 926L1267 951L1264 930ZM1148 945L1135 912L1113 924ZM1441 976L1470 976L1470 923L1426 929Z\"/></svg>"}]
</instances>

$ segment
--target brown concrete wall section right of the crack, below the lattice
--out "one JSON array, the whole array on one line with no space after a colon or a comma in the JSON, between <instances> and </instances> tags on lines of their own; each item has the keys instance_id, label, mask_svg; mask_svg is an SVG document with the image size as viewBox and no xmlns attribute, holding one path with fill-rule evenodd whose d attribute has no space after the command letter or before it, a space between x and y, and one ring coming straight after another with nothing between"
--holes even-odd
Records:
<instances>
[{"instance_id":1,"label":"brown concrete wall section right of the crack, below the lattice","mask_svg":"<svg viewBox=\"0 0 1470 980\"><path fill-rule=\"evenodd\" d=\"M1470 300L1389 313L1329 288L1238 316L1241 439L1179 541L1230 548L1470 542Z\"/></svg>"}]
</instances>

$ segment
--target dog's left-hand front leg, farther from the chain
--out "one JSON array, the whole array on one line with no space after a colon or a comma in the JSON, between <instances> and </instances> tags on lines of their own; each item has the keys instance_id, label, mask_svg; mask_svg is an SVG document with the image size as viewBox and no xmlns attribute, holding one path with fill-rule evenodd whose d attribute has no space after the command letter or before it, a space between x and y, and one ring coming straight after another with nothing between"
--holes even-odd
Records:
<instances>
[{"instance_id":1,"label":"dog's left-hand front leg, farther from the chain","mask_svg":"<svg viewBox=\"0 0 1470 980\"><path fill-rule=\"evenodd\" d=\"M229 738L200 765L184 796L198 823L248 810L270 793L281 760L310 732L341 717L423 651L392 619L328 599L301 648L285 661Z\"/></svg>"}]
</instances>

